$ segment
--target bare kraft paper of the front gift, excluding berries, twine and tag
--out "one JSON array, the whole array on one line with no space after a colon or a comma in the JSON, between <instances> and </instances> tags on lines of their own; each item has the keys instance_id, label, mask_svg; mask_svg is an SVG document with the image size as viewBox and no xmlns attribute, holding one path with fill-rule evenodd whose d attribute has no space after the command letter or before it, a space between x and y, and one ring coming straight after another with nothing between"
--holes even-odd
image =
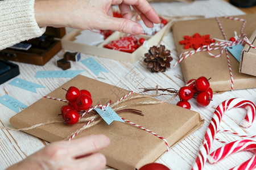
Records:
<instances>
[{"instance_id":1,"label":"bare kraft paper of the front gift, excluding berries, twine and tag","mask_svg":"<svg viewBox=\"0 0 256 170\"><path fill-rule=\"evenodd\" d=\"M65 91L61 88L68 89L70 86L76 86L79 89L90 91L93 106L99 104L100 101L109 101L109 99L114 103L119 97L129 92L122 88L78 75L47 96L65 99ZM117 96L116 94L121 96ZM143 97L139 100L125 101L123 104L134 104L139 101L147 100L158 101L151 97ZM47 122L48 120L61 121L63 118L58 116L58 114L60 114L60 108L65 104L67 103L42 98L22 112L16 114L10 119L10 122L15 128L24 128ZM166 138L169 146L173 146L176 142L179 142L181 139L191 134L204 123L199 113L177 107L170 103L137 105L129 108L141 110L144 116L129 112L123 112L119 115ZM27 130L26 133L35 135L48 142L53 142L63 140L69 134L84 126L84 124L78 123L71 126L63 122L62 124L52 124ZM75 138L90 134L105 134L110 138L110 146L101 152L106 156L107 164L117 169L140 168L146 163L154 162L167 149L162 139L123 122L114 121L112 124L108 125L105 121L101 121L77 134Z\"/></svg>"}]
</instances>

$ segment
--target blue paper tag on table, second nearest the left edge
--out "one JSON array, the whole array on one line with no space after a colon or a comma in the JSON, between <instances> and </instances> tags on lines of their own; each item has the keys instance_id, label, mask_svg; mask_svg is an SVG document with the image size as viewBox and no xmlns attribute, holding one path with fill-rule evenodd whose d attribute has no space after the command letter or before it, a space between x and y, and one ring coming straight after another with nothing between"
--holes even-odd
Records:
<instances>
[{"instance_id":1,"label":"blue paper tag on table, second nearest the left edge","mask_svg":"<svg viewBox=\"0 0 256 170\"><path fill-rule=\"evenodd\" d=\"M15 78L9 84L19 87L19 88L23 88L24 90L32 91L34 93L36 93L36 88L45 88L44 86L41 86L40 84L28 82L27 80L23 80L20 78Z\"/></svg>"}]
</instances>

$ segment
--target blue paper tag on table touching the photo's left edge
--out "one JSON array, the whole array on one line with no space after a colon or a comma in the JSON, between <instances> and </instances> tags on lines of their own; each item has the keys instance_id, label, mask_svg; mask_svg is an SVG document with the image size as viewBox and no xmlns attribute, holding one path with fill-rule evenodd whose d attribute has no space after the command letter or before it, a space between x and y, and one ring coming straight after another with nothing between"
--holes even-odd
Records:
<instances>
[{"instance_id":1,"label":"blue paper tag on table touching the photo's left edge","mask_svg":"<svg viewBox=\"0 0 256 170\"><path fill-rule=\"evenodd\" d=\"M26 105L21 103L20 101L14 99L13 97L9 95L3 95L0 97L0 103L5 105L7 108L12 109L16 113L19 113L19 108L27 108Z\"/></svg>"}]
</instances>

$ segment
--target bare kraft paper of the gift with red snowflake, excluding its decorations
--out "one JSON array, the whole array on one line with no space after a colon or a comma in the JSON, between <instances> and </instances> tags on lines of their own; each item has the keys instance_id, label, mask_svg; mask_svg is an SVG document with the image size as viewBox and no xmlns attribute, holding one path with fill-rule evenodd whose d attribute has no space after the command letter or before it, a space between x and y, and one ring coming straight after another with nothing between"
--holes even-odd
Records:
<instances>
[{"instance_id":1,"label":"bare kraft paper of the gift with red snowflake, excluding its decorations","mask_svg":"<svg viewBox=\"0 0 256 170\"><path fill-rule=\"evenodd\" d=\"M246 20L244 32L247 37L250 37L256 28L256 14L236 16ZM220 19L220 23L224 29L228 40L234 37L234 31L237 35L241 34L243 22L230 20L225 18ZM193 36L195 33L200 35L210 35L210 39L217 38L224 40L224 36L218 26L216 18L198 19L176 22L172 27L174 39L178 54L185 51L193 50L193 48L184 49L183 45L179 44L180 40L184 39L185 35ZM221 50L212 51L213 54L220 54ZM244 88L256 88L255 76L239 73L240 63L229 53L232 74L234 78L234 90ZM231 79L229 73L228 61L225 51L219 58L211 57L208 52L199 52L189 56L180 62L183 71L185 82L189 79L196 79L199 76L211 78L210 87L213 91L229 91L231 90Z\"/></svg>"}]
</instances>

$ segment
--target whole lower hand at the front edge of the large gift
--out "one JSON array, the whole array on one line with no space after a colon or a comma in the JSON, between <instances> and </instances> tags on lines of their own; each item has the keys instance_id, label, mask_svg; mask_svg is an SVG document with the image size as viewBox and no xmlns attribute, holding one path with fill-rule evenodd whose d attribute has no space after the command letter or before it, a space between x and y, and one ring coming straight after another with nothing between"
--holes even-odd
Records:
<instances>
[{"instance_id":1,"label":"whole lower hand at the front edge of the large gift","mask_svg":"<svg viewBox=\"0 0 256 170\"><path fill-rule=\"evenodd\" d=\"M106 158L98 150L109 146L105 135L90 135L72 141L53 142L11 169L104 169Z\"/></svg>"}]
</instances>

